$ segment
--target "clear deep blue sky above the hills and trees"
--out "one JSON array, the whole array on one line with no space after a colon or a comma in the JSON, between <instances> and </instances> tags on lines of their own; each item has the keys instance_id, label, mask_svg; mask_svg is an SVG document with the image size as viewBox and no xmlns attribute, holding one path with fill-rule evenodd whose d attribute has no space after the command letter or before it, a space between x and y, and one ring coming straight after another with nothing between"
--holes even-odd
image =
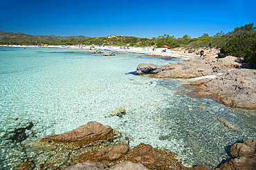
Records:
<instances>
[{"instance_id":1,"label":"clear deep blue sky above the hills and trees","mask_svg":"<svg viewBox=\"0 0 256 170\"><path fill-rule=\"evenodd\" d=\"M210 36L255 23L256 0L0 0L0 31L30 35Z\"/></svg>"}]
</instances>

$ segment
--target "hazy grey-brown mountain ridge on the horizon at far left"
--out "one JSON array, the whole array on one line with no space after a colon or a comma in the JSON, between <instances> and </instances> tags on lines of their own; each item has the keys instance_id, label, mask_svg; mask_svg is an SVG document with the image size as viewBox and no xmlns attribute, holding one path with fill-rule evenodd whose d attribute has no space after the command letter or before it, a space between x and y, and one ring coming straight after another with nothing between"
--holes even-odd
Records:
<instances>
[{"instance_id":1,"label":"hazy grey-brown mountain ridge on the horizon at far left","mask_svg":"<svg viewBox=\"0 0 256 170\"><path fill-rule=\"evenodd\" d=\"M60 37L55 35L26 35L20 32L0 31L0 41L60 41L71 38L75 40L89 39L89 37L83 35Z\"/></svg>"}]
</instances>

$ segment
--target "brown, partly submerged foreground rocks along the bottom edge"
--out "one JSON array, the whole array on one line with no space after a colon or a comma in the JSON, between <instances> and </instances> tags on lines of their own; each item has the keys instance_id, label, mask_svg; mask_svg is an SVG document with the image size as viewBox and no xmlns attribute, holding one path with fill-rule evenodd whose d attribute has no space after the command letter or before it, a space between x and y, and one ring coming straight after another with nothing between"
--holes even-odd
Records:
<instances>
[{"instance_id":1,"label":"brown, partly submerged foreground rocks along the bottom edge","mask_svg":"<svg viewBox=\"0 0 256 170\"><path fill-rule=\"evenodd\" d=\"M204 165L184 167L174 153L154 149L149 144L130 149L129 140L110 126L88 122L73 131L43 138L30 146L39 152L16 169L210 169ZM255 149L253 139L233 144L230 150L232 158L217 169L254 169Z\"/></svg>"}]
</instances>

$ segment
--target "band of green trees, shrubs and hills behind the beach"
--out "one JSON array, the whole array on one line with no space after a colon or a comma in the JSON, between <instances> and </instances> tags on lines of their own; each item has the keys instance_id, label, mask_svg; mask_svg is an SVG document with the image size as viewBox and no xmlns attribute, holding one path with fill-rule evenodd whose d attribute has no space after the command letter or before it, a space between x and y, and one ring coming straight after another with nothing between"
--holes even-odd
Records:
<instances>
[{"instance_id":1,"label":"band of green trees, shrubs and hills behind the beach","mask_svg":"<svg viewBox=\"0 0 256 170\"><path fill-rule=\"evenodd\" d=\"M245 62L256 64L256 30L254 23L245 24L235 28L232 32L217 32L210 37L208 33L203 33L201 37L191 38L190 35L184 35L182 38L176 38L174 35L159 35L158 37L141 38L130 36L109 36L109 37L86 37L70 36L60 37L55 35L25 35L19 32L0 32L0 44L17 45L73 45L84 44L95 46L169 46L169 48L183 48L186 50L199 48L218 48L219 57L232 55L244 59Z\"/></svg>"}]
</instances>

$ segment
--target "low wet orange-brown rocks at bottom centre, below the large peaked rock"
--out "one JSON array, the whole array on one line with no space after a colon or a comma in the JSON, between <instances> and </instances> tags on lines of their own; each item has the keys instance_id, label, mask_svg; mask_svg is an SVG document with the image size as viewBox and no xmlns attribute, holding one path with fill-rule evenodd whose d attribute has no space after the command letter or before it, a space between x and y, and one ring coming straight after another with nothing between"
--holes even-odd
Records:
<instances>
[{"instance_id":1,"label":"low wet orange-brown rocks at bottom centre, below the large peaked rock","mask_svg":"<svg viewBox=\"0 0 256 170\"><path fill-rule=\"evenodd\" d=\"M74 158L74 160L75 162L102 162L109 166L113 165L113 162L129 161L136 164L141 163L147 169L190 169L184 167L179 160L176 160L176 155L170 151L154 149L149 144L139 144L129 151L128 148L128 144L120 144L116 147L102 149L102 151L84 153ZM199 167L196 169L208 169L203 165Z\"/></svg>"}]
</instances>

